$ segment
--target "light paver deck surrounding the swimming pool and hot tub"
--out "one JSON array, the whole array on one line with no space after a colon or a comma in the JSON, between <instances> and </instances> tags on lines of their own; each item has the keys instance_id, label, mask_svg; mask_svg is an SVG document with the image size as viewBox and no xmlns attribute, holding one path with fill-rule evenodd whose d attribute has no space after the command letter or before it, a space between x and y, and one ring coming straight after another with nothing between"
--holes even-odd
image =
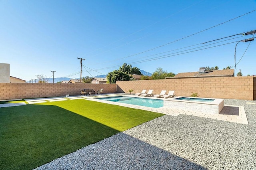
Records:
<instances>
[{"instance_id":1,"label":"light paver deck surrounding the swimming pool and hot tub","mask_svg":"<svg viewBox=\"0 0 256 170\"><path fill-rule=\"evenodd\" d=\"M183 114L183 115L204 117L207 119L217 119L220 121L228 121L228 122L241 123L241 124L248 125L246 113L245 113L243 106L224 105L222 111L220 111L219 114L210 114L210 113L206 113L206 112L191 111L191 110L186 110L186 109L174 109L174 108L170 108L170 107L152 108L152 107L144 107L144 106L138 106L138 105L130 105L130 104L125 104L125 103L117 103L117 102L112 102L112 101L97 100L97 98L100 98L100 97L114 97L114 96L120 96L120 95L126 95L126 94L118 93L118 94L104 94L104 95L91 95L91 96L70 96L68 98L52 97L52 98L40 98L40 99L26 99L25 101L28 104L36 104L36 103L45 103L45 102L54 102L54 101L85 99L85 100L90 100L90 101L108 103L108 104L112 104L112 105L119 105L119 106L123 106L123 107L130 107L130 108L134 108L134 109L142 109L142 110L152 111L152 112L156 112L156 113L163 113L163 114L170 115L170 116L178 116L180 114ZM142 97L142 96L134 96L134 95L126 95L126 96L127 97L140 97L140 98L147 98L147 99L148 98L159 99L157 97ZM162 99L162 100L172 100L172 98ZM21 105L26 105L26 103L20 102L20 103L0 104L0 108L1 107L21 106Z\"/></svg>"}]
</instances>

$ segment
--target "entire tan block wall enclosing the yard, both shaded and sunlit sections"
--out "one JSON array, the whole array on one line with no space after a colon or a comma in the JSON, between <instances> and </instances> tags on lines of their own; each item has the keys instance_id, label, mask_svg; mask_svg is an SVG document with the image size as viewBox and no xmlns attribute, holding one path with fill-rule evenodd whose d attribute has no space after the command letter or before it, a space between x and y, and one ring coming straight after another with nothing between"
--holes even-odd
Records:
<instances>
[{"instance_id":1,"label":"entire tan block wall enclosing the yard, both shaded and sunlit sections","mask_svg":"<svg viewBox=\"0 0 256 170\"><path fill-rule=\"evenodd\" d=\"M116 84L0 83L0 100L80 95L79 89L104 89L104 93L140 93L142 89L175 90L177 96L256 100L256 77L208 77L164 80L117 81Z\"/></svg>"}]
</instances>

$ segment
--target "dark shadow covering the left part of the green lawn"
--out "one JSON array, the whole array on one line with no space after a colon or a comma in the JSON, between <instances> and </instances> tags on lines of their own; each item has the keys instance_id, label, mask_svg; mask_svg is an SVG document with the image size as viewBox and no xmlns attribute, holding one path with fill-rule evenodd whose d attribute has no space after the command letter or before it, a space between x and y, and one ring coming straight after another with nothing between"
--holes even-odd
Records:
<instances>
[{"instance_id":1,"label":"dark shadow covering the left part of the green lawn","mask_svg":"<svg viewBox=\"0 0 256 170\"><path fill-rule=\"evenodd\" d=\"M0 109L0 169L32 169L118 133L52 105Z\"/></svg>"}]
</instances>

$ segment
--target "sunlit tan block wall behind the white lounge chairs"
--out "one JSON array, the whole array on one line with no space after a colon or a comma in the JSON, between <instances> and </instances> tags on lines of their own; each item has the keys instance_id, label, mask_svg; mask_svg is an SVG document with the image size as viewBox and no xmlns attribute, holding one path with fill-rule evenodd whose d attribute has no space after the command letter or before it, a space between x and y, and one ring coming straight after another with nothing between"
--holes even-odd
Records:
<instances>
[{"instance_id":1,"label":"sunlit tan block wall behind the white lounge chairs","mask_svg":"<svg viewBox=\"0 0 256 170\"><path fill-rule=\"evenodd\" d=\"M161 90L175 90L176 96L190 96L198 93L199 97L220 99L256 100L256 77L205 77L141 81L117 81L117 92L140 93L142 89L153 89L159 94Z\"/></svg>"}]
</instances>

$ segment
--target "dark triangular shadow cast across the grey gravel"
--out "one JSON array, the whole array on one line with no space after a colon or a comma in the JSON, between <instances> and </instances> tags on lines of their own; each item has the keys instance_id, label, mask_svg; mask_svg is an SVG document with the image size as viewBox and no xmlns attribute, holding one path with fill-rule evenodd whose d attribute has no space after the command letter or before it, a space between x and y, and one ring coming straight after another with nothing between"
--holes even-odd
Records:
<instances>
[{"instance_id":1,"label":"dark triangular shadow cast across the grey gravel","mask_svg":"<svg viewBox=\"0 0 256 170\"><path fill-rule=\"evenodd\" d=\"M206 170L198 164L122 132L58 158L37 169L49 168Z\"/></svg>"}]
</instances>

